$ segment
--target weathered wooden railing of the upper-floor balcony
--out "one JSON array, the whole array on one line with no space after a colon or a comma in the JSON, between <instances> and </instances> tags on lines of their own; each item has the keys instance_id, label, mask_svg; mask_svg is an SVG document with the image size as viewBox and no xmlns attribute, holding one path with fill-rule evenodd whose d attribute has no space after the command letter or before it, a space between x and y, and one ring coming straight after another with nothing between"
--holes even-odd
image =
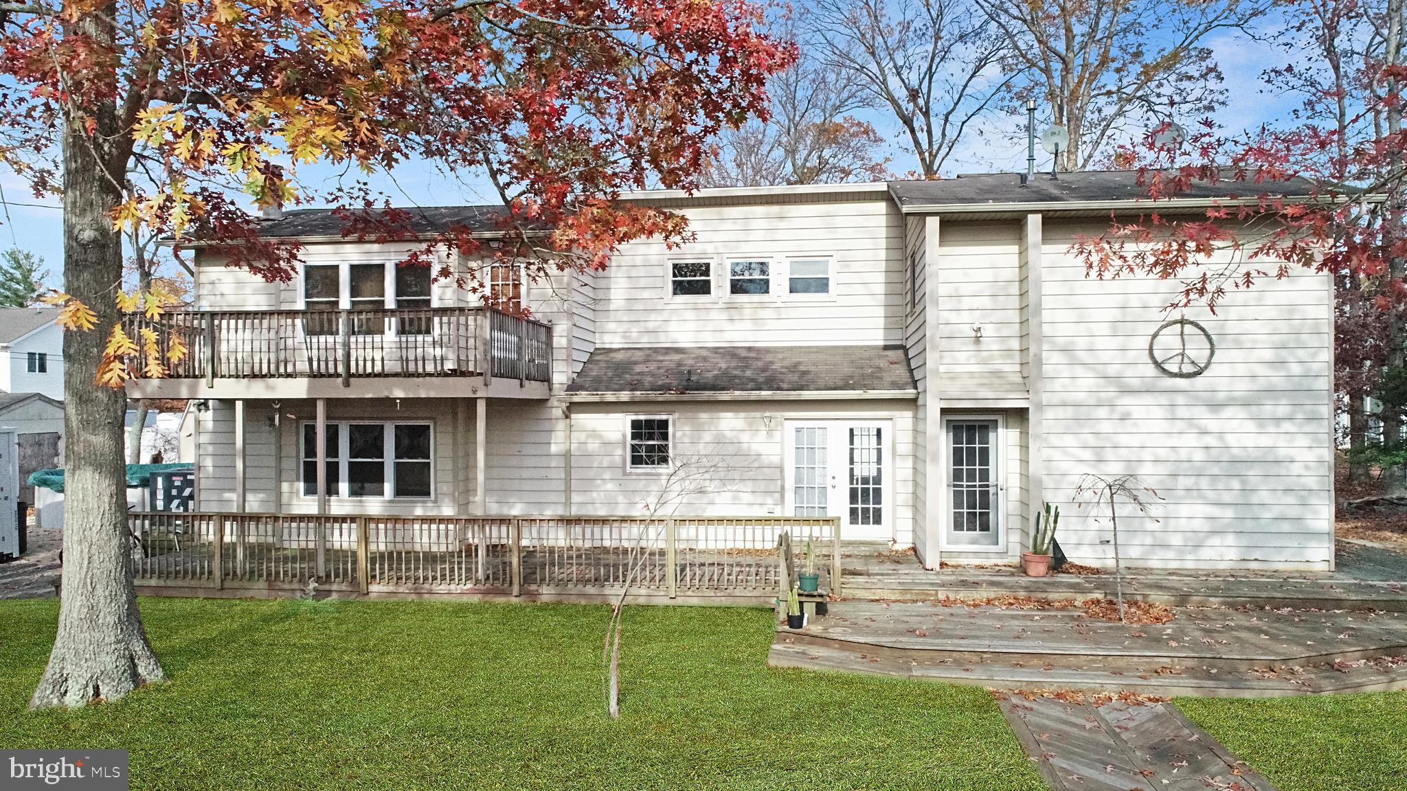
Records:
<instances>
[{"instance_id":1,"label":"weathered wooden railing of the upper-floor balcony","mask_svg":"<svg viewBox=\"0 0 1407 791\"><path fill-rule=\"evenodd\" d=\"M170 311L124 318L156 331L167 379L342 379L484 376L550 381L552 328L488 308ZM186 356L166 352L179 339Z\"/></svg>"}]
</instances>

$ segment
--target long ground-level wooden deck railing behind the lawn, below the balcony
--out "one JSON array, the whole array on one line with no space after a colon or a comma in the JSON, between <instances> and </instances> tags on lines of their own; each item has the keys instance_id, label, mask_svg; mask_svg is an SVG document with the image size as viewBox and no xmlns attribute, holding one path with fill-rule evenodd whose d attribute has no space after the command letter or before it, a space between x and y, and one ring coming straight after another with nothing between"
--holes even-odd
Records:
<instances>
[{"instance_id":1,"label":"long ground-level wooden deck railing behind the lawn, below the balcony","mask_svg":"<svg viewBox=\"0 0 1407 791\"><path fill-rule=\"evenodd\" d=\"M148 588L310 587L362 594L774 598L787 533L794 564L815 539L839 593L827 518L338 517L131 514L132 576Z\"/></svg>"}]
</instances>

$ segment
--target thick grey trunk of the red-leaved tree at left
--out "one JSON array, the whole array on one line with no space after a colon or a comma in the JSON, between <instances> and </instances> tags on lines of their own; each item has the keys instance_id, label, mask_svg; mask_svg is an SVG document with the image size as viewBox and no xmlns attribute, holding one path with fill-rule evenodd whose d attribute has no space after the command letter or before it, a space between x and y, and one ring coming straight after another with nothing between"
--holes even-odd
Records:
<instances>
[{"instance_id":1,"label":"thick grey trunk of the red-leaved tree at left","mask_svg":"<svg viewBox=\"0 0 1407 791\"><path fill-rule=\"evenodd\" d=\"M69 23L111 41L113 8ZM100 15L103 14L103 15ZM63 283L97 314L94 329L63 332L66 446L63 587L59 629L31 708L114 700L163 678L146 642L129 564L122 459L121 390L94 384L107 335L118 319L114 290L122 280L122 243L108 211L120 203L124 162L108 153L121 137L117 110L104 100L89 110L96 134L70 120L63 135Z\"/></svg>"}]
</instances>

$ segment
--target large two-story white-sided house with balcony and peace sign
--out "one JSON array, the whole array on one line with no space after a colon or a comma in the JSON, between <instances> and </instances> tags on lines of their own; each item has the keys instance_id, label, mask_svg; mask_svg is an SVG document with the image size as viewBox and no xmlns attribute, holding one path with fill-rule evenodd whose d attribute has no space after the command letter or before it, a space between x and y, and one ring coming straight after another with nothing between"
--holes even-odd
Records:
<instances>
[{"instance_id":1,"label":"large two-story white-sided house with balcony and peace sign","mask_svg":"<svg viewBox=\"0 0 1407 791\"><path fill-rule=\"evenodd\" d=\"M1230 191L1159 210L1204 217ZM304 243L298 277L198 251L197 311L172 319L191 353L129 394L197 400L203 511L664 502L840 517L937 567L1016 559L1051 501L1067 555L1104 564L1107 521L1072 493L1133 473L1164 500L1121 507L1126 563L1332 567L1330 277L1266 279L1164 328L1176 281L1090 279L1069 252L1138 198L1131 173L637 193L695 238L550 283L492 267L491 298L532 321L293 211L265 232ZM419 217L490 235L495 211Z\"/></svg>"}]
</instances>

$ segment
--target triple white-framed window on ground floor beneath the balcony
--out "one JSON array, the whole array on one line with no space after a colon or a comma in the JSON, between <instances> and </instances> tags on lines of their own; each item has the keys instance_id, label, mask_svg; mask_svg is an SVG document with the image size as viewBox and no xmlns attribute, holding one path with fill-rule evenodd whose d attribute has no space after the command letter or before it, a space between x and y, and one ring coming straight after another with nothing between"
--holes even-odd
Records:
<instances>
[{"instance_id":1,"label":"triple white-framed window on ground floor beneath the balcony","mask_svg":"<svg viewBox=\"0 0 1407 791\"><path fill-rule=\"evenodd\" d=\"M328 497L429 500L435 494L433 428L426 421L326 424ZM304 422L298 491L318 495L318 426Z\"/></svg>"}]
</instances>

